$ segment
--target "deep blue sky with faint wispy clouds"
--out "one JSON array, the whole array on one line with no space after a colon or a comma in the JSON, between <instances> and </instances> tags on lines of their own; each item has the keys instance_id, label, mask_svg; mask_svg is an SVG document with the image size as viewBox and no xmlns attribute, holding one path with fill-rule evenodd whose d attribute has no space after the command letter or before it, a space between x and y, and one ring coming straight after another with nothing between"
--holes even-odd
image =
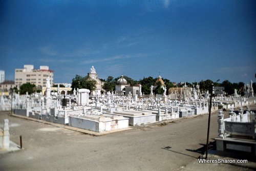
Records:
<instances>
[{"instance_id":1,"label":"deep blue sky with faint wispy clouds","mask_svg":"<svg viewBox=\"0 0 256 171\"><path fill-rule=\"evenodd\" d=\"M254 82L256 1L0 1L0 70Z\"/></svg>"}]
</instances>

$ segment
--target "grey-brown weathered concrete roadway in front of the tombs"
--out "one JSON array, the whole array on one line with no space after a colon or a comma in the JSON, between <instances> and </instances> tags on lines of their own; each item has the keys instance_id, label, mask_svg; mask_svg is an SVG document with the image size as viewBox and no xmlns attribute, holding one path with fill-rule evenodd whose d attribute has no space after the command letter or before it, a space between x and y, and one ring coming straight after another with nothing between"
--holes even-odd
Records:
<instances>
[{"instance_id":1,"label":"grey-brown weathered concrete roadway in front of the tombs","mask_svg":"<svg viewBox=\"0 0 256 171\"><path fill-rule=\"evenodd\" d=\"M253 162L246 167L198 164L206 144L208 115L103 136L85 135L7 113L0 114L0 123L5 118L9 119L10 140L19 144L22 135L24 149L0 155L0 170L256 169ZM217 119L217 113L212 114L210 141L218 135Z\"/></svg>"}]
</instances>

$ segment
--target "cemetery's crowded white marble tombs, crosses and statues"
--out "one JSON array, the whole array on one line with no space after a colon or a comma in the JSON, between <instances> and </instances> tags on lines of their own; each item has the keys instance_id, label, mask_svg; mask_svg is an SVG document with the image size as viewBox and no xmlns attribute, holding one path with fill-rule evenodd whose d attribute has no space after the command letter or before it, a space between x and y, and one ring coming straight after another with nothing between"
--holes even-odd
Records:
<instances>
[{"instance_id":1,"label":"cemetery's crowded white marble tombs, crosses and statues","mask_svg":"<svg viewBox=\"0 0 256 171\"><path fill-rule=\"evenodd\" d=\"M97 75L94 68L91 69L91 74ZM123 77L121 79L118 86L126 83ZM121 91L122 89L118 89L116 93L103 94L98 90L91 93L88 89L74 89L73 94L65 95L59 90L53 93L51 89L50 81L47 79L45 95L17 93L12 96L12 99L11 96L9 98L1 96L0 110L13 110L15 116L25 116L103 133L123 130L131 126L208 114L210 106L209 92L205 92L202 96L198 85L195 88L186 86L170 88L168 95L165 94L167 91L165 86L162 86L164 91L162 95L155 95L152 86L149 97L143 97L141 85L128 86L125 93ZM217 89L214 92L216 94L218 91L223 91L222 88ZM247 90L252 91L250 87ZM255 114L249 107L247 111L241 110L241 106L249 106L255 103L256 99L253 97L253 92L248 92L246 95L242 97L235 91L231 97L223 96L222 93L212 97L211 111L219 111L219 136L216 138L219 152L239 149L256 154ZM239 107L239 111L233 110ZM223 118L222 110L230 110L229 118ZM7 124L8 121L5 121L5 125ZM0 136L1 147L6 147L8 144L6 137L8 134L4 131Z\"/></svg>"}]
</instances>

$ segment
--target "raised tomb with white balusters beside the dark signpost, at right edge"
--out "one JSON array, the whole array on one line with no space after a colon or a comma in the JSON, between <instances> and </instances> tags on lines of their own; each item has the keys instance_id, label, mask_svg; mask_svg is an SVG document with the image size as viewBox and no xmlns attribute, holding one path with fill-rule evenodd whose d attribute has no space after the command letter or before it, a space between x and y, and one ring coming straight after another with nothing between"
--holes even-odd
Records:
<instances>
[{"instance_id":1,"label":"raised tomb with white balusters beside the dark signpost, at right edge","mask_svg":"<svg viewBox=\"0 0 256 171\"><path fill-rule=\"evenodd\" d=\"M251 156L256 159L256 126L255 111L244 112L242 108L229 112L224 119L223 111L219 110L219 136L215 139L217 154L239 154Z\"/></svg>"}]
</instances>

